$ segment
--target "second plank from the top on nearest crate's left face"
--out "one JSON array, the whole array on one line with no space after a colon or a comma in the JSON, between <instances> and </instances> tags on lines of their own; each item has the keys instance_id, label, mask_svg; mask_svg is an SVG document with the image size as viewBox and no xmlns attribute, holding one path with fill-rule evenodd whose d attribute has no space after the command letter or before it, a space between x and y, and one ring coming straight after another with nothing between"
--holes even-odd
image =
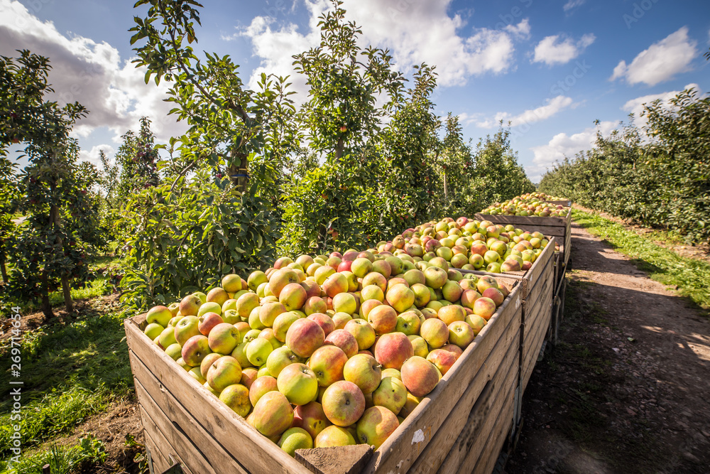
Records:
<instances>
[{"instance_id":1,"label":"second plank from the top on nearest crate's left face","mask_svg":"<svg viewBox=\"0 0 710 474\"><path fill-rule=\"evenodd\" d=\"M212 465L219 465L220 468L228 469L231 473L247 474L244 466L234 459L211 433L204 431L184 406L167 390L160 390L160 381L155 379L143 362L134 355L132 358L135 363L131 362L131 368L136 375L136 394L141 406L148 413L162 413L177 431L185 434Z\"/></svg>"}]
</instances>

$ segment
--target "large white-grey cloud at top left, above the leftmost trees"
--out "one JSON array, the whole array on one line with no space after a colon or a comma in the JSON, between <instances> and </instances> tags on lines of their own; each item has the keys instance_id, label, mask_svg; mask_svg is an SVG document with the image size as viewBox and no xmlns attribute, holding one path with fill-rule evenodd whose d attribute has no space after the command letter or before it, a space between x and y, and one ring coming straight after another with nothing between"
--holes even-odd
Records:
<instances>
[{"instance_id":1,"label":"large white-grey cloud at top left, above the leftmost trees","mask_svg":"<svg viewBox=\"0 0 710 474\"><path fill-rule=\"evenodd\" d=\"M100 126L120 136L137 129L144 115L151 117L152 129L163 141L186 128L168 117L172 107L163 102L168 85L146 85L145 70L136 69L130 58L122 60L116 48L82 36L67 38L19 1L0 0L0 54L16 56L21 48L50 59L49 82L55 93L49 99L60 104L78 101L89 109L72 136L87 137Z\"/></svg>"}]
</instances>

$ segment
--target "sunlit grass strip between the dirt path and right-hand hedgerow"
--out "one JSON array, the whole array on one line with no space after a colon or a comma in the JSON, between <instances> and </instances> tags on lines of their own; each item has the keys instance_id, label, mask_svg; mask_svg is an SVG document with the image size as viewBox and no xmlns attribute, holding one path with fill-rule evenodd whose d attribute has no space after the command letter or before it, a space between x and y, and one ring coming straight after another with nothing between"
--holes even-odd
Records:
<instances>
[{"instance_id":1,"label":"sunlit grass strip between the dirt path and right-hand hedgerow","mask_svg":"<svg viewBox=\"0 0 710 474\"><path fill-rule=\"evenodd\" d=\"M618 252L630 257L639 269L648 272L651 279L666 286L677 286L679 294L710 310L710 264L682 257L596 214L573 209L572 218L592 235L601 237Z\"/></svg>"}]
</instances>

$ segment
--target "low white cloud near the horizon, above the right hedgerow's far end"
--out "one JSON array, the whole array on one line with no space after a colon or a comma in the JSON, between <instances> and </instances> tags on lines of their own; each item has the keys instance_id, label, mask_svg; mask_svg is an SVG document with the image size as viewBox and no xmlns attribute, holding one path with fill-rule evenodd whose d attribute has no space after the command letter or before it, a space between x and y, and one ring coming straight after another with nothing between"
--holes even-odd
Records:
<instances>
[{"instance_id":1,"label":"low white cloud near the horizon, above the right hedgerow's far end","mask_svg":"<svg viewBox=\"0 0 710 474\"><path fill-rule=\"evenodd\" d=\"M530 148L533 153L532 166L525 167L525 173L528 174L533 183L540 180L542 173L545 170L552 168L555 161L563 161L564 157L574 157L577 153L584 150L589 150L594 146L596 141L596 132L601 131L602 135L608 135L613 129L616 129L618 122L601 122L599 128L590 126L577 134L567 135L559 133L550 139L545 145L533 146Z\"/></svg>"}]
</instances>

